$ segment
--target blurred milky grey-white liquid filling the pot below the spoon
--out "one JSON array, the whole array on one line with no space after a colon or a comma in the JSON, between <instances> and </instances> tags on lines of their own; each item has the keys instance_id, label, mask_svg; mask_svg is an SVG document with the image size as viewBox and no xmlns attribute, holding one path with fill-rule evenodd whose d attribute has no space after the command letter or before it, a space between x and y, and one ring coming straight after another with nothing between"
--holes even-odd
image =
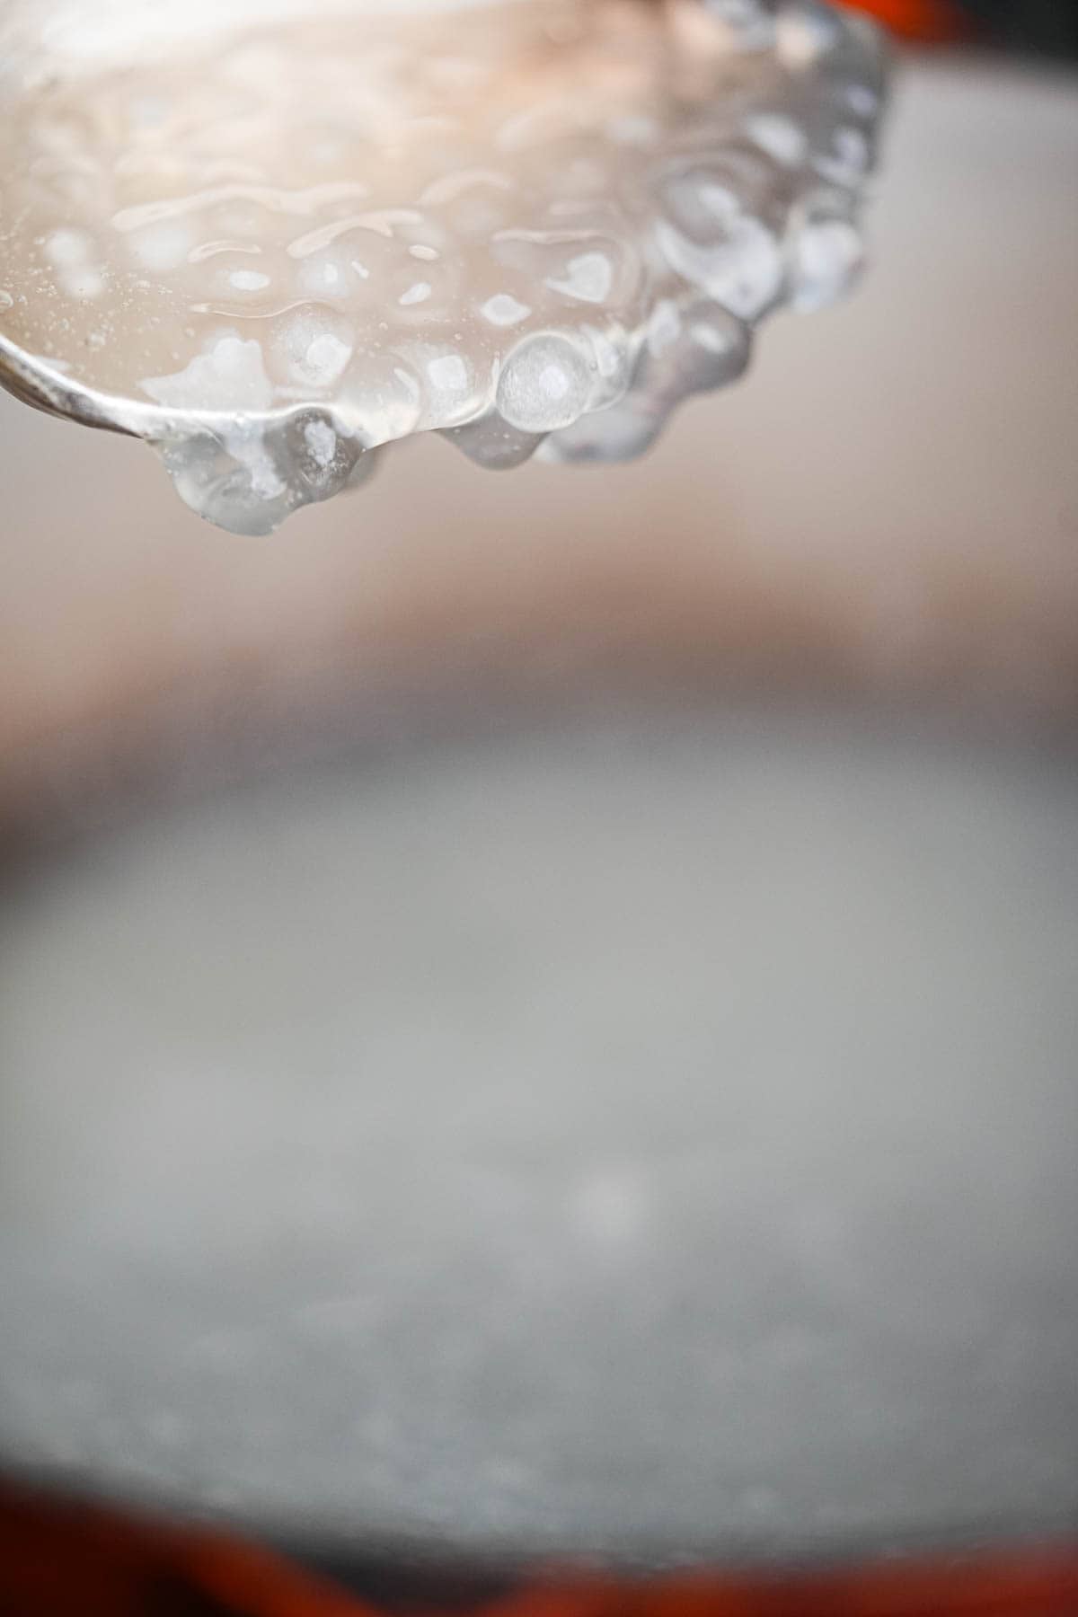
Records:
<instances>
[{"instance_id":1,"label":"blurred milky grey-white liquid filling the pot below the spoon","mask_svg":"<svg viewBox=\"0 0 1078 1617\"><path fill-rule=\"evenodd\" d=\"M659 1557L1078 1509L1078 781L664 711L0 904L0 1455Z\"/></svg>"}]
</instances>

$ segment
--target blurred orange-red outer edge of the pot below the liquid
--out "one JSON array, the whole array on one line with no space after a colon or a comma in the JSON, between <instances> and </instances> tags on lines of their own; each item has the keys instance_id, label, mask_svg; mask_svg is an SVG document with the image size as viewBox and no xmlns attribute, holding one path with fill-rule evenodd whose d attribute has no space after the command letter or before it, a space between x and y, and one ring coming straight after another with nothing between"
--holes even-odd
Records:
<instances>
[{"instance_id":1,"label":"blurred orange-red outer edge of the pot below the liquid","mask_svg":"<svg viewBox=\"0 0 1078 1617\"><path fill-rule=\"evenodd\" d=\"M3 1617L385 1617L440 1609L349 1594L217 1533L0 1488ZM1078 1617L1078 1544L839 1572L614 1580L550 1573L456 1617Z\"/></svg>"}]
</instances>

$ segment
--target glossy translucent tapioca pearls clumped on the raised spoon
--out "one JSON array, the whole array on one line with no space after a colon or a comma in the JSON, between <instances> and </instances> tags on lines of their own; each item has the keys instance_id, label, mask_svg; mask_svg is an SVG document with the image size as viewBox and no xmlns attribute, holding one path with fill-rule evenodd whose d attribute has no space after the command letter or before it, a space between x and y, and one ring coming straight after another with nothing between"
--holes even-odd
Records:
<instances>
[{"instance_id":1,"label":"glossy translucent tapioca pearls clumped on the raised spoon","mask_svg":"<svg viewBox=\"0 0 1078 1617\"><path fill-rule=\"evenodd\" d=\"M860 265L879 57L811 0L217 13L15 6L0 372L223 527L414 432L637 454Z\"/></svg>"}]
</instances>

